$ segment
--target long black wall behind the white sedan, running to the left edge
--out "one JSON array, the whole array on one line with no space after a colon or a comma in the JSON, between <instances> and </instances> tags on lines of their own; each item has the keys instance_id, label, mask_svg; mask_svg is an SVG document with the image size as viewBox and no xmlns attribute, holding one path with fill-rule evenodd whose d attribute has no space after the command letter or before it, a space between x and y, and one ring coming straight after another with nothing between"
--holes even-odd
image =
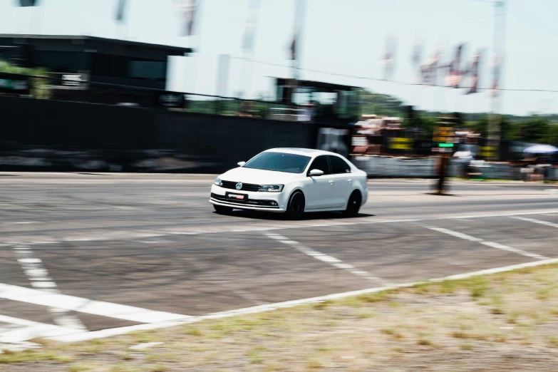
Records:
<instances>
[{"instance_id":1,"label":"long black wall behind the white sedan, running to the left edge","mask_svg":"<svg viewBox=\"0 0 558 372\"><path fill-rule=\"evenodd\" d=\"M262 150L346 154L345 125L0 96L0 170L222 172Z\"/></svg>"}]
</instances>

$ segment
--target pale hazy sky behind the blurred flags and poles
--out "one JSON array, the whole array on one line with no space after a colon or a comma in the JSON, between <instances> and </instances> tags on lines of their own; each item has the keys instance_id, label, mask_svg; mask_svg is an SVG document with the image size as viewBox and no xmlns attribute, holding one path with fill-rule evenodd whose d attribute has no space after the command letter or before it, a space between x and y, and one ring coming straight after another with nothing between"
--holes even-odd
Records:
<instances>
[{"instance_id":1,"label":"pale hazy sky behind the blurred flags and poles","mask_svg":"<svg viewBox=\"0 0 558 372\"><path fill-rule=\"evenodd\" d=\"M201 0L196 35L182 37L176 0L128 0L125 23L118 24L118 0L37 0L36 7L0 0L0 33L42 33L123 38L186 46L189 57L171 57L167 89L217 94L219 55L230 56L226 94L274 96L270 76L290 78L289 46L294 32L295 1L261 0L254 50L242 51L249 0ZM393 80L417 83L413 45L423 41L423 59L441 51L448 63L455 47L465 43L465 61L482 50L481 88L490 86L495 39L495 5L491 0L305 0L299 38L300 78L361 86L394 95L420 110L500 113L558 113L558 93L505 91L500 100L487 91L465 95L465 89L410 86L383 78L378 60L386 39L396 38ZM506 0L505 48L500 86L558 91L558 14L556 0ZM497 18L500 32L504 19ZM248 57L254 61L245 61ZM264 62L264 63L262 63ZM279 65L279 66L272 66ZM304 69L327 73L305 71ZM330 73L358 76L335 76ZM440 81L441 83L441 81Z\"/></svg>"}]
</instances>

